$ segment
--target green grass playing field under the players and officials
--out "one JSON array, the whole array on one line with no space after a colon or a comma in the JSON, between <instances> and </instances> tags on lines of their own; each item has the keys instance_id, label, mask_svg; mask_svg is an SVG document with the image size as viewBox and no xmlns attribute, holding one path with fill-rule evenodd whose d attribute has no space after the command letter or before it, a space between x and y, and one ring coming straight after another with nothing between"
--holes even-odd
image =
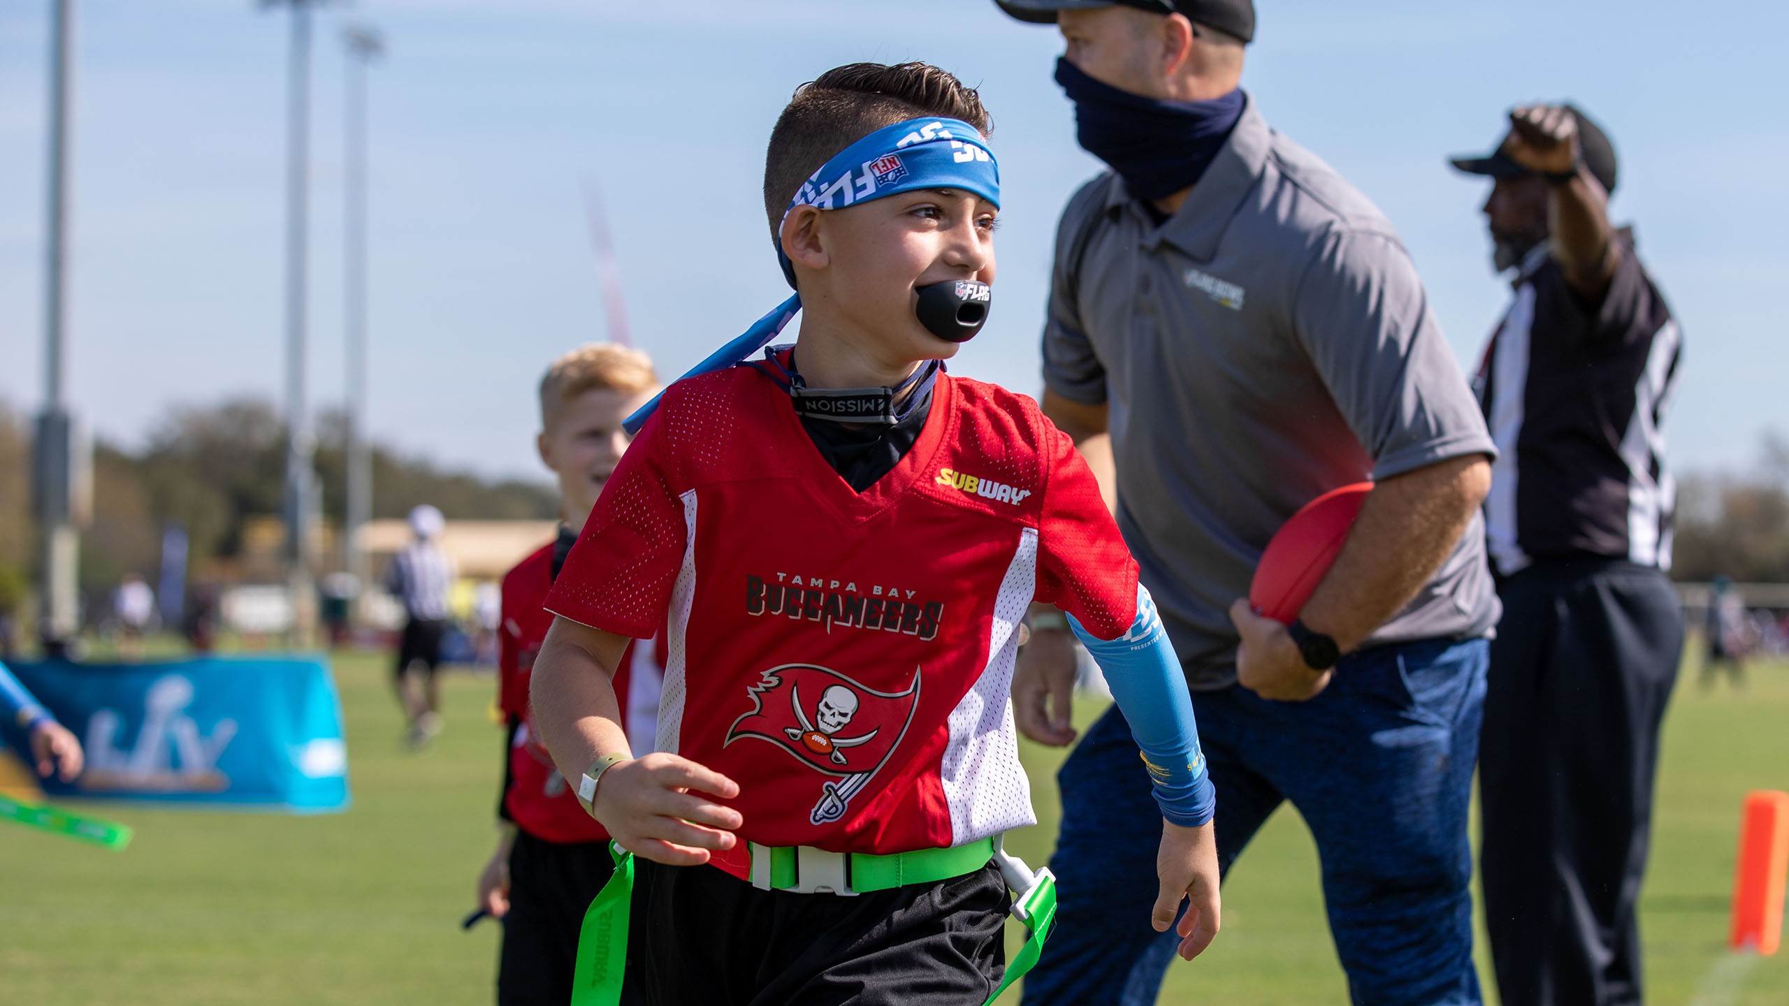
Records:
<instances>
[{"instance_id":1,"label":"green grass playing field under the players and officials","mask_svg":"<svg viewBox=\"0 0 1789 1006\"><path fill-rule=\"evenodd\" d=\"M0 1002L492 1001L497 929L458 927L492 841L501 739L487 714L490 678L454 675L447 732L408 754L383 661L335 666L354 788L345 814L84 806L136 829L122 854L0 825ZM1090 720L1097 709L1081 712ZM1785 725L1789 664L1753 668L1744 695L1703 695L1687 682L1673 702L1642 899L1649 1002L1789 1002L1789 952L1750 968L1737 995L1698 995L1726 954L1741 798L1789 788ZM1009 843L1036 865L1054 836L1050 773L1061 752L1023 754L1045 823ZM1315 848L1283 809L1224 890L1222 936L1204 958L1174 965L1161 1002L1345 1001Z\"/></svg>"}]
</instances>

